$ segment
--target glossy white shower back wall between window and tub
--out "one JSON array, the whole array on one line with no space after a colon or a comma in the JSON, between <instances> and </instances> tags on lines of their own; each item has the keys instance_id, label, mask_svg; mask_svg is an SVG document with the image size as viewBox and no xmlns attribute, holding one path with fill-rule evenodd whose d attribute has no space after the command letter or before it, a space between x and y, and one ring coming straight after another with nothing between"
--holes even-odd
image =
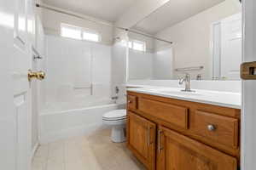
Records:
<instances>
[{"instance_id":1,"label":"glossy white shower back wall between window and tub","mask_svg":"<svg viewBox=\"0 0 256 170\"><path fill-rule=\"evenodd\" d=\"M111 46L47 36L46 101L78 99L80 95L110 97Z\"/></svg>"}]
</instances>

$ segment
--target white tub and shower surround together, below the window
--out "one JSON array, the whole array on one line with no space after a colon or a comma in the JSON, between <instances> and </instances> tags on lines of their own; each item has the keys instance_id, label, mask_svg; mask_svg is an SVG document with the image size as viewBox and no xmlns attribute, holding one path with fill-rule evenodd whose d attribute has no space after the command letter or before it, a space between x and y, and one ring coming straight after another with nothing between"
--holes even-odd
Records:
<instances>
[{"instance_id":1,"label":"white tub and shower surround together, below the window","mask_svg":"<svg viewBox=\"0 0 256 170\"><path fill-rule=\"evenodd\" d=\"M41 143L92 133L105 112L125 108L111 99L110 46L47 36L46 47Z\"/></svg>"}]
</instances>

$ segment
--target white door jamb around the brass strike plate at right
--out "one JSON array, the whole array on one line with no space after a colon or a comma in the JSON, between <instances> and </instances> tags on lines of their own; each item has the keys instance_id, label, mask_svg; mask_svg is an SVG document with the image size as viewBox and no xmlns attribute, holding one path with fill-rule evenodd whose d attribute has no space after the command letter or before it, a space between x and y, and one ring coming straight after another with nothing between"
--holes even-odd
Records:
<instances>
[{"instance_id":1,"label":"white door jamb around the brass strike plate at right","mask_svg":"<svg viewBox=\"0 0 256 170\"><path fill-rule=\"evenodd\" d=\"M243 0L243 62L256 61L256 3ZM256 69L254 68L254 74ZM256 80L242 81L241 170L256 169Z\"/></svg>"}]
</instances>

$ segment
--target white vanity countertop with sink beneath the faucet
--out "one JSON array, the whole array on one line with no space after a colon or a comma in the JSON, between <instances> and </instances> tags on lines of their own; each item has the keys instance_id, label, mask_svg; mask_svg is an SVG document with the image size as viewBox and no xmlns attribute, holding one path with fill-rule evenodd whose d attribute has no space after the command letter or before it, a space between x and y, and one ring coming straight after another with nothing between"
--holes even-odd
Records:
<instances>
[{"instance_id":1,"label":"white vanity countertop with sink beneath the faucet","mask_svg":"<svg viewBox=\"0 0 256 170\"><path fill-rule=\"evenodd\" d=\"M144 87L144 88L128 88L127 91L142 94L151 94L172 99L182 99L192 102L219 105L235 109L241 109L241 94L210 91L201 89L192 89L195 92L181 92L183 88L160 88L160 87Z\"/></svg>"}]
</instances>

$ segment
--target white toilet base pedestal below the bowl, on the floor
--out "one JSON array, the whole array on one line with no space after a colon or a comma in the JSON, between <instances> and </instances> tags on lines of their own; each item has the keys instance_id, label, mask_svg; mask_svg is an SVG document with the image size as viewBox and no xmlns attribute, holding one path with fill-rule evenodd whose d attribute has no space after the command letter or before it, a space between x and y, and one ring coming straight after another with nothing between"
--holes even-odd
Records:
<instances>
[{"instance_id":1,"label":"white toilet base pedestal below the bowl, on the floor","mask_svg":"<svg viewBox=\"0 0 256 170\"><path fill-rule=\"evenodd\" d=\"M125 142L125 125L116 125L112 127L111 140L114 143Z\"/></svg>"}]
</instances>

